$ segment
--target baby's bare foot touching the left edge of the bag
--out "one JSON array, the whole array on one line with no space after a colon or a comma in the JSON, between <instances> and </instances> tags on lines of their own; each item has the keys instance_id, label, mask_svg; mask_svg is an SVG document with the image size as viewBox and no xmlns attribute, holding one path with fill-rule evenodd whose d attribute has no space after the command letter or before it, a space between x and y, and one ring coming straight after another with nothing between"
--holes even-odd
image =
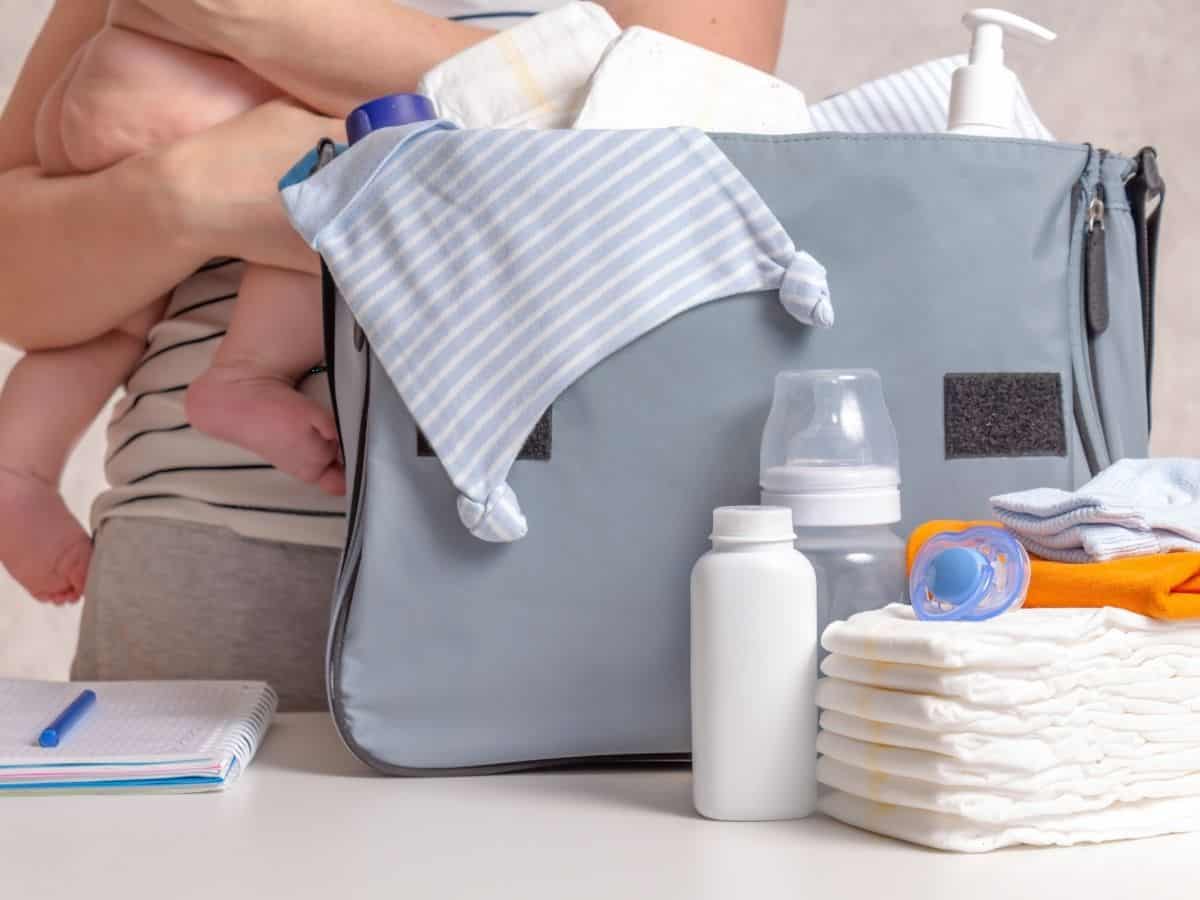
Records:
<instances>
[{"instance_id":1,"label":"baby's bare foot touching the left edge of the bag","mask_svg":"<svg viewBox=\"0 0 1200 900\"><path fill-rule=\"evenodd\" d=\"M187 390L196 428L236 444L325 493L346 493L334 416L290 383L238 366L214 365Z\"/></svg>"}]
</instances>

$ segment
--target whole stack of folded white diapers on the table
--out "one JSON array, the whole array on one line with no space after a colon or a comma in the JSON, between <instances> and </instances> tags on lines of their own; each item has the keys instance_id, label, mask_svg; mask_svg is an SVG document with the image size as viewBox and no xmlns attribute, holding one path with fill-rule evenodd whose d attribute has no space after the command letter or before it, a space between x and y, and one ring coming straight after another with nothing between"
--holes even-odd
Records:
<instances>
[{"instance_id":1,"label":"whole stack of folded white diapers on the table","mask_svg":"<svg viewBox=\"0 0 1200 900\"><path fill-rule=\"evenodd\" d=\"M1200 623L893 605L822 644L833 818L962 852L1200 830Z\"/></svg>"}]
</instances>

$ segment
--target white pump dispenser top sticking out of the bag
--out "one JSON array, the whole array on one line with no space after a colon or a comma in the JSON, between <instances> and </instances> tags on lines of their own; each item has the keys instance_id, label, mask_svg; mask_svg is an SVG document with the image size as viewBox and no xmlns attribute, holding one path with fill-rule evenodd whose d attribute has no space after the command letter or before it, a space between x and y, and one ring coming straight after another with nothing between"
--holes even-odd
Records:
<instances>
[{"instance_id":1,"label":"white pump dispenser top sticking out of the bag","mask_svg":"<svg viewBox=\"0 0 1200 900\"><path fill-rule=\"evenodd\" d=\"M973 32L971 59L950 85L949 131L1006 137L1015 133L1016 76L1004 65L1004 32L1048 44L1054 31L1003 10L972 10L962 24Z\"/></svg>"}]
</instances>

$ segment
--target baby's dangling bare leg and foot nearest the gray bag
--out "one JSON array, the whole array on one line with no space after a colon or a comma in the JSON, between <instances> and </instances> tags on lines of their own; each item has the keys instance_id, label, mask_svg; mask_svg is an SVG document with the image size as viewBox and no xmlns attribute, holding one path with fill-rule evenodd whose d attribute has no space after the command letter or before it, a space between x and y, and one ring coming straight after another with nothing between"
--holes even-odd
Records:
<instances>
[{"instance_id":1,"label":"baby's dangling bare leg and foot nearest the gray bag","mask_svg":"<svg viewBox=\"0 0 1200 900\"><path fill-rule=\"evenodd\" d=\"M334 416L296 390L324 355L319 282L247 266L212 367L187 391L187 418L206 434L322 490L346 492Z\"/></svg>"}]
</instances>

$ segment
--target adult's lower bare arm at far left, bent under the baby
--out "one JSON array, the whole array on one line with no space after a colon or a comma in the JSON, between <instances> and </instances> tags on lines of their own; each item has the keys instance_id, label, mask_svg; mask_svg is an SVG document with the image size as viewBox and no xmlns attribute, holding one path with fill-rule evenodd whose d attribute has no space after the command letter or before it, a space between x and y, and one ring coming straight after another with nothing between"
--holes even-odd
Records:
<instances>
[{"instance_id":1,"label":"adult's lower bare arm at far left, bent under the baby","mask_svg":"<svg viewBox=\"0 0 1200 900\"><path fill-rule=\"evenodd\" d=\"M313 265L275 180L336 128L295 107L268 104L90 175L37 168L42 97L107 7L55 4L0 116L0 341L26 349L103 334L215 256Z\"/></svg>"}]
</instances>

